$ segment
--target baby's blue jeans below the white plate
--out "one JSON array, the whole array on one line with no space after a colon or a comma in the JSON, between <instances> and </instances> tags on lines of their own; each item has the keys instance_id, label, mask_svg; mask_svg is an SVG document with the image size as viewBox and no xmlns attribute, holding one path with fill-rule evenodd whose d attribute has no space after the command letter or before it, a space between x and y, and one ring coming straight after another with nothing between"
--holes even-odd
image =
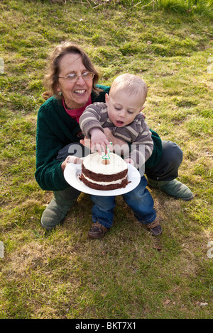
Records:
<instances>
[{"instance_id":1,"label":"baby's blue jeans below the white plate","mask_svg":"<svg viewBox=\"0 0 213 333\"><path fill-rule=\"evenodd\" d=\"M133 191L123 194L124 201L133 210L136 219L148 225L156 218L153 208L154 202L146 188L146 177L141 177L141 182ZM115 196L90 196L94 205L92 207L92 222L99 222L104 227L111 227L114 218Z\"/></svg>"}]
</instances>

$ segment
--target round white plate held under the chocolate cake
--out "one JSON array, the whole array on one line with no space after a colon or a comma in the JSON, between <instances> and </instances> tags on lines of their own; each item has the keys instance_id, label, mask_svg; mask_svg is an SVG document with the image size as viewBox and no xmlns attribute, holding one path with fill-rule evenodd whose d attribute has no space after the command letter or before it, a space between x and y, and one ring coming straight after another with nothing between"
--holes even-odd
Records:
<instances>
[{"instance_id":1,"label":"round white plate held under the chocolate cake","mask_svg":"<svg viewBox=\"0 0 213 333\"><path fill-rule=\"evenodd\" d=\"M81 192L94 194L95 196L120 196L121 194L132 191L141 181L141 175L133 165L128 164L128 169L127 179L130 183L126 185L125 188L110 191L94 190L80 181L79 176L82 172L82 164L67 163L64 176L68 184Z\"/></svg>"}]
</instances>

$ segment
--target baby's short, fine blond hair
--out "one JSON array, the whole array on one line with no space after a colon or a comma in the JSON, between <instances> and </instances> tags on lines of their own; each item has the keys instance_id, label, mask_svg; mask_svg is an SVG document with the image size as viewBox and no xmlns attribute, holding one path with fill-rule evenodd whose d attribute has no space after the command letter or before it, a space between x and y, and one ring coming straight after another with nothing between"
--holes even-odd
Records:
<instances>
[{"instance_id":1,"label":"baby's short, fine blond hair","mask_svg":"<svg viewBox=\"0 0 213 333\"><path fill-rule=\"evenodd\" d=\"M141 103L146 101L148 92L147 85L143 79L137 75L126 73L116 77L116 79L114 79L113 83L111 84L109 95L115 94L117 89L124 91L128 96L140 94Z\"/></svg>"}]
</instances>

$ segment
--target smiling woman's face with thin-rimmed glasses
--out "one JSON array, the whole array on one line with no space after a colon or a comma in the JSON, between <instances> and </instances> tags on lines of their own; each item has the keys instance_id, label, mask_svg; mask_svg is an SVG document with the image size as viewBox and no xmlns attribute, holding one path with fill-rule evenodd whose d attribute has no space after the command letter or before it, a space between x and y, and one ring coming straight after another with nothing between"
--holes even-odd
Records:
<instances>
[{"instance_id":1,"label":"smiling woman's face with thin-rimmed glasses","mask_svg":"<svg viewBox=\"0 0 213 333\"><path fill-rule=\"evenodd\" d=\"M84 72L88 72L87 68L84 67L81 55L75 53L64 55L60 59L59 68L59 77L67 77L73 73L82 75ZM91 95L92 79L84 81L82 77L79 77L76 81L69 81L58 78L58 91L62 92L67 108L81 108Z\"/></svg>"}]
</instances>

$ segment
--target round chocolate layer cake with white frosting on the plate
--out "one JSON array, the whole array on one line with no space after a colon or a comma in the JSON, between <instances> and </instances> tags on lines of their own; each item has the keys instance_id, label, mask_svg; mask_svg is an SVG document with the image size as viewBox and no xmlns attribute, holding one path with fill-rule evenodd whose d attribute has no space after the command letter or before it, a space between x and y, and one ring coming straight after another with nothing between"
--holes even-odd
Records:
<instances>
[{"instance_id":1,"label":"round chocolate layer cake with white frosting on the plate","mask_svg":"<svg viewBox=\"0 0 213 333\"><path fill-rule=\"evenodd\" d=\"M125 188L128 165L119 155L110 152L104 159L98 152L89 154L84 158L80 181L95 190L115 190Z\"/></svg>"}]
</instances>

